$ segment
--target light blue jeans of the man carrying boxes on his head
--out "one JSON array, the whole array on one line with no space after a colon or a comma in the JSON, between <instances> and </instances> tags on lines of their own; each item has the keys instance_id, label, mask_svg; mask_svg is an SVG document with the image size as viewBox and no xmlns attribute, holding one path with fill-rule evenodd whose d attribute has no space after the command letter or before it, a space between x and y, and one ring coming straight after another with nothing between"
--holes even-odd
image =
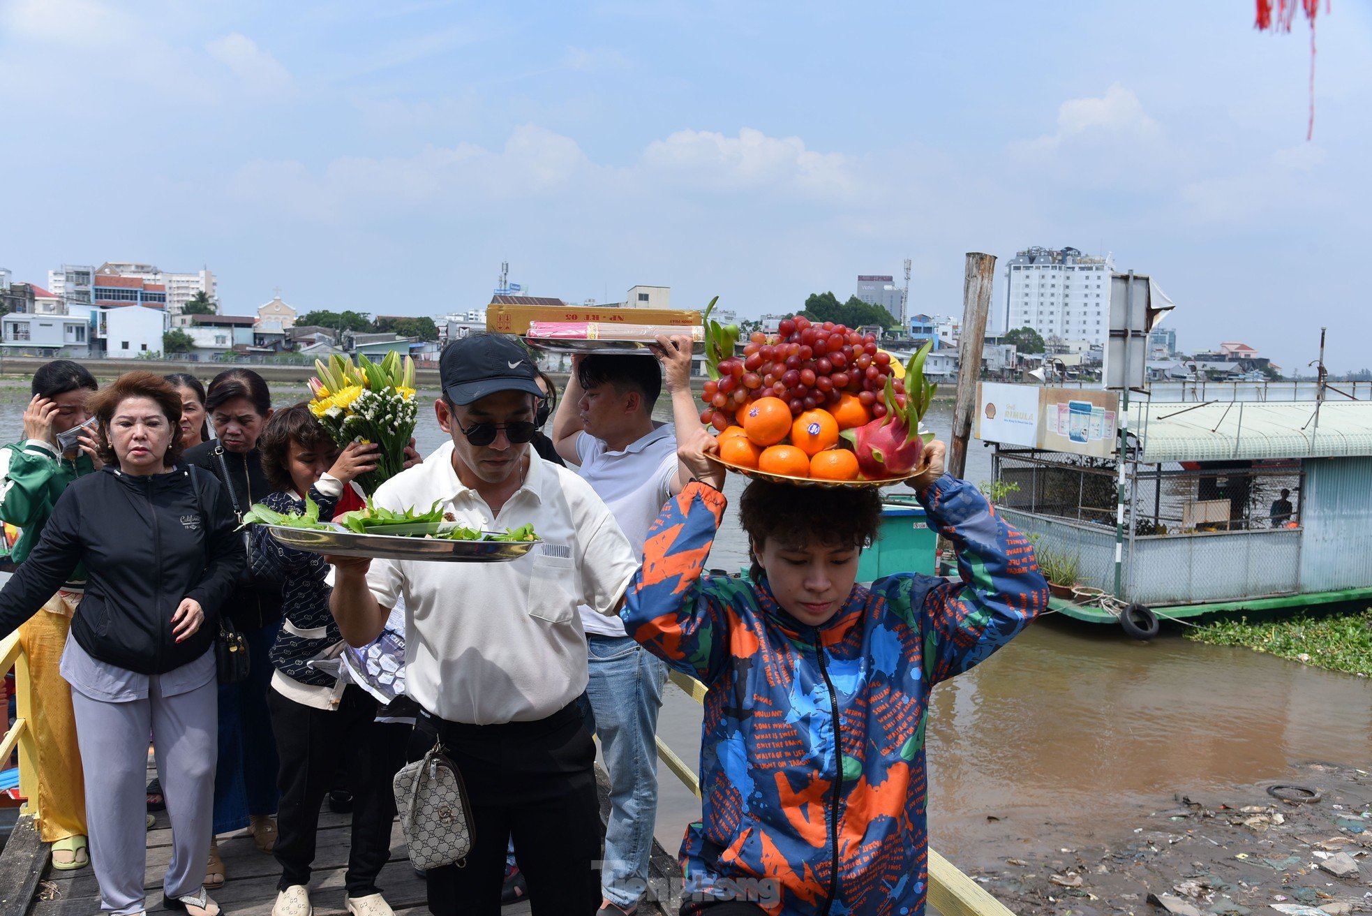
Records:
<instances>
[{"instance_id":1,"label":"light blue jeans of the man carrying boxes on his head","mask_svg":"<svg viewBox=\"0 0 1372 916\"><path fill-rule=\"evenodd\" d=\"M590 683L580 702L609 770L601 893L631 906L648 889L657 818L657 711L667 666L628 636L589 636Z\"/></svg>"}]
</instances>

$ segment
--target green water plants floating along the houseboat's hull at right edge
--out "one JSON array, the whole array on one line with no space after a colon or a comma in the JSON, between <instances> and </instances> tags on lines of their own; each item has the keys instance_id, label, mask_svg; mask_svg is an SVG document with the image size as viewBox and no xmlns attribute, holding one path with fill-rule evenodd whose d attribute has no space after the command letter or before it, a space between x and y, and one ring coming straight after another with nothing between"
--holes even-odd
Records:
<instances>
[{"instance_id":1,"label":"green water plants floating along the houseboat's hull at right edge","mask_svg":"<svg viewBox=\"0 0 1372 916\"><path fill-rule=\"evenodd\" d=\"M1372 677L1372 608L1249 622L1214 621L1187 632L1210 645L1243 645L1302 665Z\"/></svg>"}]
</instances>

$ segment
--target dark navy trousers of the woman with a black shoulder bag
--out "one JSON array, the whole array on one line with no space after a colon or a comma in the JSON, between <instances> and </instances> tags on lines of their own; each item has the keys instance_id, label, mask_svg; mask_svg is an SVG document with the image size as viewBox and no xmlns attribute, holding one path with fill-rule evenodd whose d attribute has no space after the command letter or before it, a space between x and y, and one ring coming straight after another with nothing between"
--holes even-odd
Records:
<instances>
[{"instance_id":1,"label":"dark navy trousers of the woman with a black shoulder bag","mask_svg":"<svg viewBox=\"0 0 1372 916\"><path fill-rule=\"evenodd\" d=\"M272 684L268 652L281 629L280 618L240 630L248 644L248 676L220 685L220 754L214 772L214 834L248 825L250 814L276 813L280 769L266 694Z\"/></svg>"}]
</instances>

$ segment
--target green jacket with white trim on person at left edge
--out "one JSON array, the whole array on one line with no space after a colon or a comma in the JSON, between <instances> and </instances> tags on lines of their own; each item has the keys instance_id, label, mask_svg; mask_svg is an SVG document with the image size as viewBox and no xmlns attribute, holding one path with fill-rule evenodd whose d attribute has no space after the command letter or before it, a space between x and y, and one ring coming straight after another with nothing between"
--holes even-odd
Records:
<instances>
[{"instance_id":1,"label":"green jacket with white trim on person at left edge","mask_svg":"<svg viewBox=\"0 0 1372 916\"><path fill-rule=\"evenodd\" d=\"M95 472L85 452L64 459L51 442L23 439L0 449L0 520L21 529L10 556L23 563L43 536L43 526L67 485ZM85 567L71 571L71 582L85 581Z\"/></svg>"}]
</instances>

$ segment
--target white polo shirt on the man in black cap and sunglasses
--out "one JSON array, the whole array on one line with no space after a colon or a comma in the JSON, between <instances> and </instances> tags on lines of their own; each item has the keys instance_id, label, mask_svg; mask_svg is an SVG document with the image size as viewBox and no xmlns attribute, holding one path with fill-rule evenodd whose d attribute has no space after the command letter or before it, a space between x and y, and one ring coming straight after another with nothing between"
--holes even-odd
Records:
<instances>
[{"instance_id":1,"label":"white polo shirt on the man in black cap and sunglasses","mask_svg":"<svg viewBox=\"0 0 1372 916\"><path fill-rule=\"evenodd\" d=\"M605 503L576 474L530 450L523 486L497 516L453 471L453 444L383 483L388 509L443 503L468 527L525 522L543 541L508 563L372 560L381 607L405 599L406 694L439 718L473 725L546 718L586 689L579 604L609 612L638 570Z\"/></svg>"}]
</instances>

